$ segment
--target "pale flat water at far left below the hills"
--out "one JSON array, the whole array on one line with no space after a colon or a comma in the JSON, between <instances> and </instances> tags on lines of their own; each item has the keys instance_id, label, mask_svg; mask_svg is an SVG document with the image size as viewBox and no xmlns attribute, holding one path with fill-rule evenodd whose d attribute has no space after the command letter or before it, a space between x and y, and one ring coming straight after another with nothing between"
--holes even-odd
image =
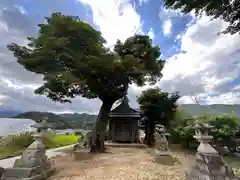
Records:
<instances>
[{"instance_id":1,"label":"pale flat water at far left below the hills","mask_svg":"<svg viewBox=\"0 0 240 180\"><path fill-rule=\"evenodd\" d=\"M0 118L0 136L17 134L24 131L35 131L31 125L35 121L31 119Z\"/></svg>"}]
</instances>

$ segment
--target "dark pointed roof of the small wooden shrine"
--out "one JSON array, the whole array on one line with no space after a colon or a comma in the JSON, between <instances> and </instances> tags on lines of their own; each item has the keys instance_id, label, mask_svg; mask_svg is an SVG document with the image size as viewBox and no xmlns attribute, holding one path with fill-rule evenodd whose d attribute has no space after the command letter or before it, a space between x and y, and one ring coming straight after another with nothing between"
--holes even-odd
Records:
<instances>
[{"instance_id":1,"label":"dark pointed roof of the small wooden shrine","mask_svg":"<svg viewBox=\"0 0 240 180\"><path fill-rule=\"evenodd\" d=\"M128 100L123 102L109 113L110 117L140 117L140 112L131 108Z\"/></svg>"}]
</instances>

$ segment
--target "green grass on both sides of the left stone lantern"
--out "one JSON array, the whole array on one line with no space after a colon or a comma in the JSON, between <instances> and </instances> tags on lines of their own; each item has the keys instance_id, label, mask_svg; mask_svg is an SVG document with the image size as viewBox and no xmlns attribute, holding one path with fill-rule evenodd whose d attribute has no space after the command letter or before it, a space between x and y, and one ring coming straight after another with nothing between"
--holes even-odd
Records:
<instances>
[{"instance_id":1,"label":"green grass on both sides of the left stone lantern","mask_svg":"<svg viewBox=\"0 0 240 180\"><path fill-rule=\"evenodd\" d=\"M55 135L51 132L47 132L44 136L47 149L75 144L80 137L79 135ZM32 133L24 132L7 138L7 141L4 146L0 146L0 159L20 155L34 140Z\"/></svg>"}]
</instances>

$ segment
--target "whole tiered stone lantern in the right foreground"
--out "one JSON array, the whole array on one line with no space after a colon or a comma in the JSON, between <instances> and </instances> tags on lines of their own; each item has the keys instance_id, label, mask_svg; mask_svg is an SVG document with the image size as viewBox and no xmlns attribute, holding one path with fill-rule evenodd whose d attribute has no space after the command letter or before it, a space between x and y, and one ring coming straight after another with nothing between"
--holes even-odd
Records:
<instances>
[{"instance_id":1,"label":"whole tiered stone lantern in the right foreground","mask_svg":"<svg viewBox=\"0 0 240 180\"><path fill-rule=\"evenodd\" d=\"M186 172L187 180L239 180L219 153L209 144L213 139L208 134L207 123L196 121L195 136L200 144L197 149L195 165Z\"/></svg>"}]
</instances>

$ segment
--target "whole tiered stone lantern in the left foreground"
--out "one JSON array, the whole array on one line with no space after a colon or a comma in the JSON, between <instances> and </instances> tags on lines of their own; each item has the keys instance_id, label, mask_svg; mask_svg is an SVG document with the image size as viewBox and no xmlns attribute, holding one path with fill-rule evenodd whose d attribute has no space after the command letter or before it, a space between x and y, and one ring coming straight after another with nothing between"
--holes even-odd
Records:
<instances>
[{"instance_id":1,"label":"whole tiered stone lantern in the left foreground","mask_svg":"<svg viewBox=\"0 0 240 180\"><path fill-rule=\"evenodd\" d=\"M4 180L46 180L54 168L46 156L46 149L43 143L43 130L46 130L47 122L36 123L33 127L38 133L33 135L34 142L23 151L20 159L16 159L12 168L5 169L2 179Z\"/></svg>"}]
</instances>

